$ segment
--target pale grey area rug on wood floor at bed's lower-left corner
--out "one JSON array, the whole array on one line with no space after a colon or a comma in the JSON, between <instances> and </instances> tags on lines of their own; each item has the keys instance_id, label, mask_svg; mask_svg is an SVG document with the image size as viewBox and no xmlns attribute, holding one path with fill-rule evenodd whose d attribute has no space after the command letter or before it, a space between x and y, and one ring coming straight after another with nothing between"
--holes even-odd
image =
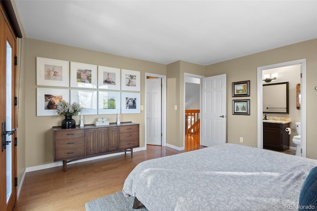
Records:
<instances>
[{"instance_id":1,"label":"pale grey area rug on wood floor at bed's lower-left corner","mask_svg":"<svg viewBox=\"0 0 317 211\"><path fill-rule=\"evenodd\" d=\"M133 209L134 197L125 197L122 191L87 202L86 211L148 211L142 204Z\"/></svg>"}]
</instances>

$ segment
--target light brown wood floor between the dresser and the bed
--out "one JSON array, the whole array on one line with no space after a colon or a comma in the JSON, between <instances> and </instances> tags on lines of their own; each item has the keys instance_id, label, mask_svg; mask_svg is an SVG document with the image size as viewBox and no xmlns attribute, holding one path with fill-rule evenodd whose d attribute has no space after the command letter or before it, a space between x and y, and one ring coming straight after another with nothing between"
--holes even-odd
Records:
<instances>
[{"instance_id":1,"label":"light brown wood floor between the dresser and the bed","mask_svg":"<svg viewBox=\"0 0 317 211\"><path fill-rule=\"evenodd\" d=\"M140 162L202 148L199 137L186 137L185 150L147 145L147 150L28 172L14 211L85 211L85 203L121 191Z\"/></svg>"}]
</instances>

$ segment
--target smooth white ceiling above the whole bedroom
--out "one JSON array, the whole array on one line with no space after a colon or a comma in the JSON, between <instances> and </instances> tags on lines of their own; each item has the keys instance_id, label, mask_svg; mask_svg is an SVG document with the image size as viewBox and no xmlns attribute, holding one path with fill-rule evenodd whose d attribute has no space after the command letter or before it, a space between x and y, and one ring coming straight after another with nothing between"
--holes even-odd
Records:
<instances>
[{"instance_id":1,"label":"smooth white ceiling above the whole bedroom","mask_svg":"<svg viewBox=\"0 0 317 211\"><path fill-rule=\"evenodd\" d=\"M15 0L27 38L210 65L317 38L317 0Z\"/></svg>"}]
</instances>

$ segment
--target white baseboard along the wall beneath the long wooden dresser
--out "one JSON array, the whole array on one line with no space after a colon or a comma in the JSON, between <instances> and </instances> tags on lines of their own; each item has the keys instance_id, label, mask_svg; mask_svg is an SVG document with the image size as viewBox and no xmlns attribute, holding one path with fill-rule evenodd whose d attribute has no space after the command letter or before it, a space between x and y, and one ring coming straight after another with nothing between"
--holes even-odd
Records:
<instances>
[{"instance_id":1,"label":"white baseboard along the wall beneath the long wooden dresser","mask_svg":"<svg viewBox=\"0 0 317 211\"><path fill-rule=\"evenodd\" d=\"M133 152L142 151L142 150L146 150L146 147L133 148ZM127 151L127 153L131 153L131 152ZM80 160L75 160L75 161L72 161L69 163L80 163L80 162L85 162L85 161L89 161L89 160L96 160L96 159L101 159L101 158L105 158L105 157L112 157L112 156L116 156L116 155L120 155L120 154L124 154L124 152L117 152L117 153L112 153L112 154L100 155L100 156L96 156L96 157L89 157L89 158L84 158L84 159L80 159ZM62 166L62 165L63 165L63 161L56 161L56 162L48 163L48 164L44 164L44 165L27 167L25 169L25 172L38 171L38 170L53 168L53 167Z\"/></svg>"}]
</instances>

